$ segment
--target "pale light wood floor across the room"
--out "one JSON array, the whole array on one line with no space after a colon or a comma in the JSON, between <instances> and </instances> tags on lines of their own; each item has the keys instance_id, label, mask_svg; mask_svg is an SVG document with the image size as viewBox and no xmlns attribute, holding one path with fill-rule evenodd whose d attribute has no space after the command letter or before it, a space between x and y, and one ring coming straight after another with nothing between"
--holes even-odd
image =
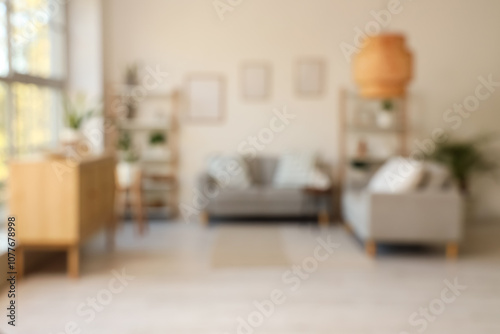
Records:
<instances>
[{"instance_id":1,"label":"pale light wood floor across the room","mask_svg":"<svg viewBox=\"0 0 500 334\"><path fill-rule=\"evenodd\" d=\"M338 226L279 225L292 266L314 255L318 237L340 243L296 291L282 280L290 265L212 268L219 228L152 224L141 239L126 225L113 253L99 237L84 249L80 280L67 279L64 268L28 276L18 287L18 326L7 326L3 316L0 332L59 334L74 321L82 334L238 333L238 317L247 318L254 301L280 289L285 302L253 333L417 333L409 316L440 297L443 280L456 277L467 289L425 333L500 333L500 224L470 229L456 262L446 261L442 249L382 250L371 260ZM234 237L245 238L244 231L234 229ZM122 268L135 279L87 323L78 305L106 289L111 270ZM7 305L5 291L0 300Z\"/></svg>"}]
</instances>

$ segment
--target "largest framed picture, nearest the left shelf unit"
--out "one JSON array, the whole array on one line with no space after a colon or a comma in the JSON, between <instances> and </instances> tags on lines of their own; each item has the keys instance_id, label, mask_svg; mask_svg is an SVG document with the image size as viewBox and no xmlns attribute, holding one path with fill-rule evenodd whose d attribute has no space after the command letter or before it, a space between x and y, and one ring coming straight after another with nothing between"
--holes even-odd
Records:
<instances>
[{"instance_id":1,"label":"largest framed picture, nearest the left shelf unit","mask_svg":"<svg viewBox=\"0 0 500 334\"><path fill-rule=\"evenodd\" d=\"M186 80L187 119L218 122L223 119L225 82L222 75L192 74Z\"/></svg>"}]
</instances>

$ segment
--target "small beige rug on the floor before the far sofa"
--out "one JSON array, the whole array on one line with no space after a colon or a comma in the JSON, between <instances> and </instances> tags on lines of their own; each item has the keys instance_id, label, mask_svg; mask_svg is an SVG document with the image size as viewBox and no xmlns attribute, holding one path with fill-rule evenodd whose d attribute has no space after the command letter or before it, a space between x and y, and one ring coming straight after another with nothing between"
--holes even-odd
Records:
<instances>
[{"instance_id":1,"label":"small beige rug on the floor before the far sofa","mask_svg":"<svg viewBox=\"0 0 500 334\"><path fill-rule=\"evenodd\" d=\"M276 226L218 226L213 268L289 266Z\"/></svg>"}]
</instances>

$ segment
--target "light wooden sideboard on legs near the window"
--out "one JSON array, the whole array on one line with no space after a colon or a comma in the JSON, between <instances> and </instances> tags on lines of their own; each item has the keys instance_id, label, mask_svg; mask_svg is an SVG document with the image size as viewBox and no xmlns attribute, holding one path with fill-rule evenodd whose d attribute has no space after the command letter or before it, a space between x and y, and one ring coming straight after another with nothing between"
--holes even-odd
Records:
<instances>
[{"instance_id":1,"label":"light wooden sideboard on legs near the window","mask_svg":"<svg viewBox=\"0 0 500 334\"><path fill-rule=\"evenodd\" d=\"M17 267L26 250L65 250L70 277L79 275L79 246L102 229L114 242L115 160L13 161L9 211L16 217Z\"/></svg>"}]
</instances>

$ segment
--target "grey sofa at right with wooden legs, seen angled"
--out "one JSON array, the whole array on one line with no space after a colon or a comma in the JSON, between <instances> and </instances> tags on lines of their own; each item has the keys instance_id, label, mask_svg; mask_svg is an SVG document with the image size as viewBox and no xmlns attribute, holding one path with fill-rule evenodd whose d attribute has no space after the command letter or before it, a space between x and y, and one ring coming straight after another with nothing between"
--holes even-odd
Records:
<instances>
[{"instance_id":1,"label":"grey sofa at right with wooden legs, seen angled","mask_svg":"<svg viewBox=\"0 0 500 334\"><path fill-rule=\"evenodd\" d=\"M377 243L445 244L455 257L462 238L462 197L454 186L419 188L402 194L346 189L342 215L349 230L365 242L369 255Z\"/></svg>"}]
</instances>

